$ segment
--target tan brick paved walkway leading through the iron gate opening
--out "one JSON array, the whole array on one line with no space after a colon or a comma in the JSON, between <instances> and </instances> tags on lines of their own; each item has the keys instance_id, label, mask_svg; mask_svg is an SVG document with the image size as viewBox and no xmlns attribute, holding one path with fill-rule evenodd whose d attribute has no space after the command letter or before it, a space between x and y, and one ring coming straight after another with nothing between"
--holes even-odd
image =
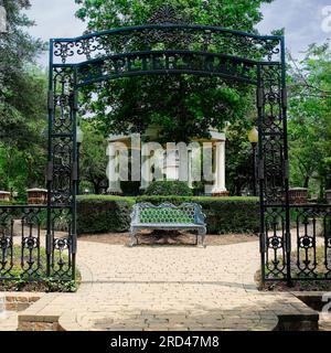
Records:
<instances>
[{"instance_id":1,"label":"tan brick paved walkway leading through the iron gate opening","mask_svg":"<svg viewBox=\"0 0 331 353\"><path fill-rule=\"evenodd\" d=\"M311 314L291 295L256 290L258 242L206 248L78 242L78 265L77 293L46 295L23 317L58 315L65 330L246 331L273 330L280 314Z\"/></svg>"}]
</instances>

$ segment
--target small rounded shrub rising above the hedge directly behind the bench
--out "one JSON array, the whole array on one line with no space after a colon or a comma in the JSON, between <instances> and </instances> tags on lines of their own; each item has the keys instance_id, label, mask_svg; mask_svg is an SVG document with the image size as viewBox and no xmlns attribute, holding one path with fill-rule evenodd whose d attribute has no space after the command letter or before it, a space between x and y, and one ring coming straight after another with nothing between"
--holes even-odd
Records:
<instances>
[{"instance_id":1,"label":"small rounded shrub rising above the hedge directly behind the bench","mask_svg":"<svg viewBox=\"0 0 331 353\"><path fill-rule=\"evenodd\" d=\"M153 181L149 184L145 194L192 196L193 192L184 181Z\"/></svg>"}]
</instances>

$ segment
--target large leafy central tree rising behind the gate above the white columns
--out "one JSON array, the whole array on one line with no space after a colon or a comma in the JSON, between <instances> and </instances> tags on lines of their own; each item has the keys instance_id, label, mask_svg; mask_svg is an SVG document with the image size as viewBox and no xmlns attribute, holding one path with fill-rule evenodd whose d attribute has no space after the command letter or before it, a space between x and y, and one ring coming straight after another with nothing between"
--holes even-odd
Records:
<instances>
[{"instance_id":1,"label":"large leafy central tree rising behind the gate above the white columns","mask_svg":"<svg viewBox=\"0 0 331 353\"><path fill-rule=\"evenodd\" d=\"M81 4L76 14L87 21L88 31L147 23L164 4L161 0L76 2ZM256 32L254 25L261 19L259 7L263 2L271 1L182 0L167 3L192 23ZM225 121L243 118L252 95L252 87L242 84L185 75L107 82L98 89L97 100L92 99L90 89L85 90L84 101L105 135L143 133L148 126L157 125L167 141L209 137L210 127L222 129Z\"/></svg>"}]
</instances>

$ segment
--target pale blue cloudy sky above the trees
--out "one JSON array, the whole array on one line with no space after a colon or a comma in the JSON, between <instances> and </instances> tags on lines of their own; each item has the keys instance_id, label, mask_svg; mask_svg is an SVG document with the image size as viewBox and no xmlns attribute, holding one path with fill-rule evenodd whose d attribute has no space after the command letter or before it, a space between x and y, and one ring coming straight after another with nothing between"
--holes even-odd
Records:
<instances>
[{"instance_id":1,"label":"pale blue cloudy sky above the trees","mask_svg":"<svg viewBox=\"0 0 331 353\"><path fill-rule=\"evenodd\" d=\"M31 3L26 14L36 24L30 29L33 36L49 41L84 32L86 24L75 18L78 7L74 0L31 0ZM310 43L323 43L331 38L331 0L274 0L261 10L264 20L257 25L260 34L285 28L286 46L296 58L303 56ZM46 67L46 53L39 63Z\"/></svg>"}]
</instances>

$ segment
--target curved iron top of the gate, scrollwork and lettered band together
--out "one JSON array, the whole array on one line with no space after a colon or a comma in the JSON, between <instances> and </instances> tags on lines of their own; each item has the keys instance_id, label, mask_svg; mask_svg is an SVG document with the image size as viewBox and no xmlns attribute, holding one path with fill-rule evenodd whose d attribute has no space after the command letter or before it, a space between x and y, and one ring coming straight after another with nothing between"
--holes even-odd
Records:
<instances>
[{"instance_id":1,"label":"curved iron top of the gate, scrollwork and lettered band together","mask_svg":"<svg viewBox=\"0 0 331 353\"><path fill-rule=\"evenodd\" d=\"M51 40L51 67L76 66L77 85L140 74L192 73L256 83L281 63L282 36L193 24L147 24Z\"/></svg>"}]
</instances>

